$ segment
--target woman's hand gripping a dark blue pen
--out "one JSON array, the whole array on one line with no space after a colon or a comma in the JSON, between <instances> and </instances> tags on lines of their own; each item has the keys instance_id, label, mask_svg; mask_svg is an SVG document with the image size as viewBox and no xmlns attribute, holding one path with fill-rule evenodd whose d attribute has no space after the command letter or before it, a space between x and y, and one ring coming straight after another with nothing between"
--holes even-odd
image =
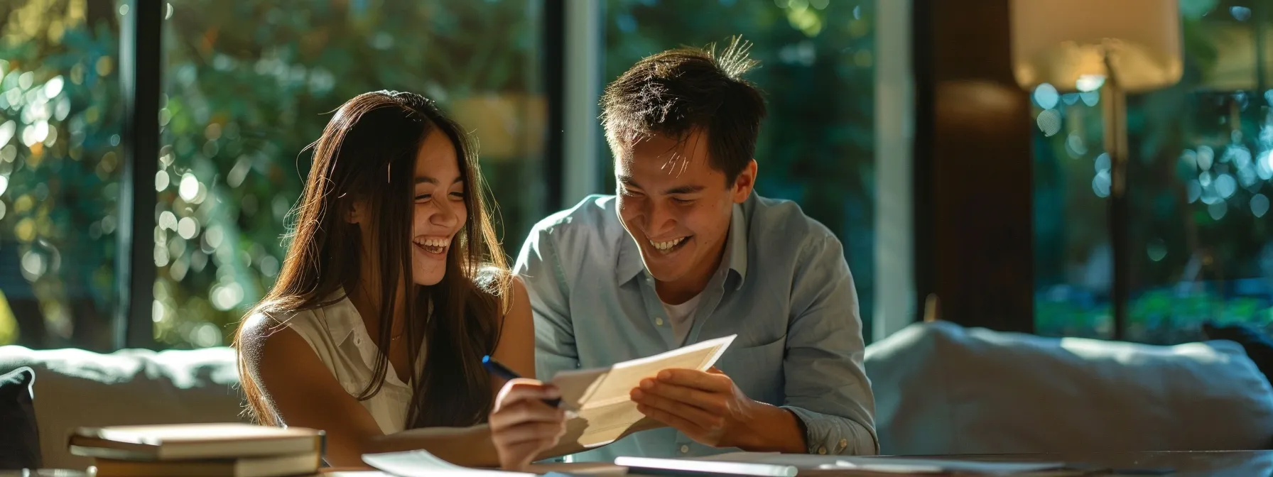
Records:
<instances>
[{"instance_id":1,"label":"woman's hand gripping a dark blue pen","mask_svg":"<svg viewBox=\"0 0 1273 477\"><path fill-rule=\"evenodd\" d=\"M535 457L556 445L565 434L565 411L544 399L558 397L555 387L533 379L513 379L504 384L489 420L500 467L524 469Z\"/></svg>"}]
</instances>

